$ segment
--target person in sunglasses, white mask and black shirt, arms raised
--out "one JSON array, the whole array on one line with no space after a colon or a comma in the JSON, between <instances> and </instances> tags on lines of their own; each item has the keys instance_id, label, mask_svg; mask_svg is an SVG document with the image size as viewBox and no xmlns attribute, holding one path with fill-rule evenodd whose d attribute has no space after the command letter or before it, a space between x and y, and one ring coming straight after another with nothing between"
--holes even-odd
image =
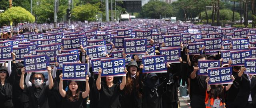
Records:
<instances>
[{"instance_id":1,"label":"person in sunglasses, white mask and black shirt, arms raised","mask_svg":"<svg viewBox=\"0 0 256 108\"><path fill-rule=\"evenodd\" d=\"M20 88L23 90L26 95L28 95L28 104L29 108L49 108L48 105L48 92L53 87L53 79L51 68L47 67L49 77L49 85L45 85L44 75L42 73L35 73L32 77L32 86L27 87L24 85L24 74L25 68L22 68L21 77L20 77Z\"/></svg>"}]
</instances>

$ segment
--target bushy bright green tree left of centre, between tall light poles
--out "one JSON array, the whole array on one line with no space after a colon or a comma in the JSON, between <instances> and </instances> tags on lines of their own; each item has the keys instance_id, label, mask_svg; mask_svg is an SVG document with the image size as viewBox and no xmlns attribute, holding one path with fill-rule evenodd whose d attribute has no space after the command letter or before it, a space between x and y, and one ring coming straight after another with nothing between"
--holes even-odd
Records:
<instances>
[{"instance_id":1,"label":"bushy bright green tree left of centre, between tall light poles","mask_svg":"<svg viewBox=\"0 0 256 108\"><path fill-rule=\"evenodd\" d=\"M76 6L71 11L71 19L76 21L96 21L96 13L100 13L98 4L85 4L82 6Z\"/></svg>"}]
</instances>

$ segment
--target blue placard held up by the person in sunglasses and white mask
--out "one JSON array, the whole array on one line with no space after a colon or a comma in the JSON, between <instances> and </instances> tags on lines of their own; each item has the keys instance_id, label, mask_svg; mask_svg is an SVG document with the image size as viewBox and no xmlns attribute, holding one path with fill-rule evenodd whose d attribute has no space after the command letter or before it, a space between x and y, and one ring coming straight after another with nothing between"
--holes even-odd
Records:
<instances>
[{"instance_id":1,"label":"blue placard held up by the person in sunglasses and white mask","mask_svg":"<svg viewBox=\"0 0 256 108\"><path fill-rule=\"evenodd\" d=\"M24 67L26 72L47 72L47 66L49 66L49 58L47 55L40 56L24 56Z\"/></svg>"}]
</instances>

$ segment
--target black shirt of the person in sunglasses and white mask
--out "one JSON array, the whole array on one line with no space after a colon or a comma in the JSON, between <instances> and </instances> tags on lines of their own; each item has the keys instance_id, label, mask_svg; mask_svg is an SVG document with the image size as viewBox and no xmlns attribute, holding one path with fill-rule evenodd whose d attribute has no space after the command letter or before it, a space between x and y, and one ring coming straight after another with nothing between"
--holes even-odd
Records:
<instances>
[{"instance_id":1,"label":"black shirt of the person in sunglasses and white mask","mask_svg":"<svg viewBox=\"0 0 256 108\"><path fill-rule=\"evenodd\" d=\"M28 95L29 108L49 108L48 105L48 92L49 86L43 83L40 87L36 88L34 84L27 87L24 85L24 93Z\"/></svg>"}]
</instances>

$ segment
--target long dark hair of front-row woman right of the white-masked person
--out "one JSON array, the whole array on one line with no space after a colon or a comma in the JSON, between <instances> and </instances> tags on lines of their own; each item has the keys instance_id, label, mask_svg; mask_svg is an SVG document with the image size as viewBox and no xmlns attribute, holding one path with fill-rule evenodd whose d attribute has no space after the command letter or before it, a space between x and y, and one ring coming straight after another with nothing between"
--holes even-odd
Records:
<instances>
[{"instance_id":1,"label":"long dark hair of front-row woman right of the white-masked person","mask_svg":"<svg viewBox=\"0 0 256 108\"><path fill-rule=\"evenodd\" d=\"M79 95L79 92L80 92L80 90L79 90L79 81L75 81L75 82L76 82L76 84L77 84L78 86L77 86L77 90L76 90L76 95L73 96L73 95L72 95L72 92L71 92L70 89L69 89L69 85L70 85L71 81L68 81L68 91L67 91L67 94L66 94L66 98L67 98L69 101L71 101L71 102L78 101L78 99L79 99L79 97L80 97L80 95Z\"/></svg>"}]
</instances>

